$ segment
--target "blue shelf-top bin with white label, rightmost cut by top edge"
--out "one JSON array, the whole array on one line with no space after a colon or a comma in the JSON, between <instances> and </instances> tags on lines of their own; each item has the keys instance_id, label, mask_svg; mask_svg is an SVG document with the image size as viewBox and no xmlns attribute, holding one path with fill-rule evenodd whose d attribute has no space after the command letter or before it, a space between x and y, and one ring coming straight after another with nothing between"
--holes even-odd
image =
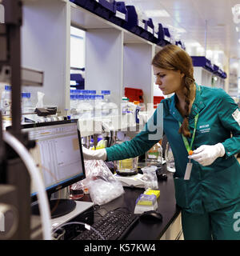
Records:
<instances>
[{"instance_id":1,"label":"blue shelf-top bin with white label, rightmost cut by top edge","mask_svg":"<svg viewBox=\"0 0 240 256\"><path fill-rule=\"evenodd\" d=\"M116 13L110 17L110 22L118 26L124 26L128 21L128 11L125 2L114 2Z\"/></svg>"}]
</instances>

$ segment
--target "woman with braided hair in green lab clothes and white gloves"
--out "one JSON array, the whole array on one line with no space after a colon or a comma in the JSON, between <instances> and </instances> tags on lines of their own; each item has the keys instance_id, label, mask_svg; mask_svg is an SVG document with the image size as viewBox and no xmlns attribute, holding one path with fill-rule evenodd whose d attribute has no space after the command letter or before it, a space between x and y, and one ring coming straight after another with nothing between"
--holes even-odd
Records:
<instances>
[{"instance_id":1,"label":"woman with braided hair in green lab clothes and white gloves","mask_svg":"<svg viewBox=\"0 0 240 256\"><path fill-rule=\"evenodd\" d=\"M185 239L240 239L240 112L222 89L194 82L190 56L165 46L152 61L162 100L130 142L86 150L86 159L120 160L144 154L163 130L173 150L174 186ZM162 111L163 110L163 111ZM189 151L193 150L193 154Z\"/></svg>"}]
</instances>

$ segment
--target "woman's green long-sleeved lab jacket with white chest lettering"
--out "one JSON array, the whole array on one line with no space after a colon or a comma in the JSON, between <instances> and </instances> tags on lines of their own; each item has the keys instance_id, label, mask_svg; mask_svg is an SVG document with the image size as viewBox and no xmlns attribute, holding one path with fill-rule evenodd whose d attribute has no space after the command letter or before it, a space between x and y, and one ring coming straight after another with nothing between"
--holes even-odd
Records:
<instances>
[{"instance_id":1,"label":"woman's green long-sleeved lab jacket with white chest lettering","mask_svg":"<svg viewBox=\"0 0 240 256\"><path fill-rule=\"evenodd\" d=\"M190 180L184 180L189 159L182 135L178 134L178 121L182 122L183 118L175 106L175 95L162 100L163 130L174 154L176 202L190 213L202 214L240 202L240 165L234 157L234 154L240 152L240 117L237 104L224 90L197 84L196 87L196 97L189 118L190 132L193 134L194 116L199 113L192 148L195 150L201 145L222 142L226 154L217 158L210 166L202 166L191 160L193 168ZM130 142L106 148L109 161L144 154L162 138L160 105L147 122L145 130ZM188 138L189 143L190 139Z\"/></svg>"}]
</instances>

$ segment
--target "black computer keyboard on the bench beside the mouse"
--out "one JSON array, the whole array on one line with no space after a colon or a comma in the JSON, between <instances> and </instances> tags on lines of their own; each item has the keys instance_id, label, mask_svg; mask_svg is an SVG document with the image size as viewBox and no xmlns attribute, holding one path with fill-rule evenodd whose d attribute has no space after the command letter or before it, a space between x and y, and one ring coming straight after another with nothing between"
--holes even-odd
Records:
<instances>
[{"instance_id":1,"label":"black computer keyboard on the bench beside the mouse","mask_svg":"<svg viewBox=\"0 0 240 256\"><path fill-rule=\"evenodd\" d=\"M138 222L138 215L122 210L110 210L92 227L102 235L105 240L121 240L133 229ZM94 230L84 230L74 240L103 240Z\"/></svg>"}]
</instances>

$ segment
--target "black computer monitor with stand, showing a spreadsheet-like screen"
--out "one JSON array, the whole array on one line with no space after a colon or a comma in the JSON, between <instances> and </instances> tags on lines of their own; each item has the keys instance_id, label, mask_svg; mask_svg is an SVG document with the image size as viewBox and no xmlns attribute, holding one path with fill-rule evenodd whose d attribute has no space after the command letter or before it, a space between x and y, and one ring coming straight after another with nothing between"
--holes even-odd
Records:
<instances>
[{"instance_id":1,"label":"black computer monitor with stand, showing a spreadsheet-like screen","mask_svg":"<svg viewBox=\"0 0 240 256\"><path fill-rule=\"evenodd\" d=\"M77 120L26 124L22 132L36 142L30 154L41 171L49 199L52 193L86 178ZM39 214L36 195L36 186L31 182L33 214ZM75 206L70 199L50 200L51 217L68 214Z\"/></svg>"}]
</instances>

